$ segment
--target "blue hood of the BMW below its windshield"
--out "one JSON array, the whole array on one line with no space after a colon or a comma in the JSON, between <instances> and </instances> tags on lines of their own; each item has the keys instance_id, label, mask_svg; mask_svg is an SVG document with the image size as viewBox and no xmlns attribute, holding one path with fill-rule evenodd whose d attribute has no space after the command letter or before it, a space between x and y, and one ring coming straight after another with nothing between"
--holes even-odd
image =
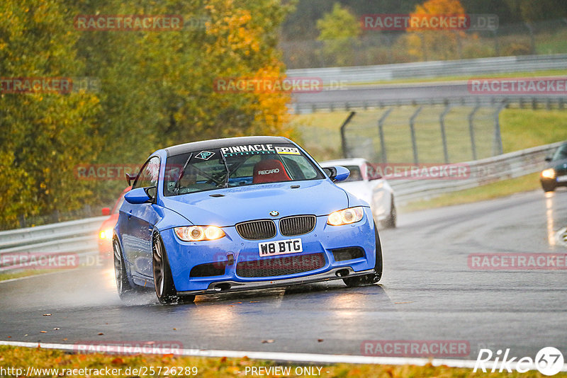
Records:
<instances>
[{"instance_id":1,"label":"blue hood of the BMW below its windshield","mask_svg":"<svg viewBox=\"0 0 567 378\"><path fill-rule=\"evenodd\" d=\"M299 188L291 188L299 185ZM222 197L212 197L223 195ZM349 206L347 193L327 180L266 183L208 190L162 199L192 224L232 226L252 219L279 219L296 214L327 215ZM269 213L279 212L272 217Z\"/></svg>"}]
</instances>

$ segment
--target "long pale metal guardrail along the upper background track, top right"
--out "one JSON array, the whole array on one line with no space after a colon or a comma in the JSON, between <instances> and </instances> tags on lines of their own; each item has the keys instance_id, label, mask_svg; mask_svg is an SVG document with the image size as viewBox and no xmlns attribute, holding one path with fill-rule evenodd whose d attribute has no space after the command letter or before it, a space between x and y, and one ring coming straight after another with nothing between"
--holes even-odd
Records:
<instances>
[{"instance_id":1,"label":"long pale metal guardrail along the upper background track, top right","mask_svg":"<svg viewBox=\"0 0 567 378\"><path fill-rule=\"evenodd\" d=\"M565 69L565 67L567 67L567 54L520 55L516 57L378 64L359 67L288 69L287 76L318 77L322 79L325 85L339 81L345 81L347 84L363 84L383 80L425 79L442 76L469 77L483 74Z\"/></svg>"}]
</instances>

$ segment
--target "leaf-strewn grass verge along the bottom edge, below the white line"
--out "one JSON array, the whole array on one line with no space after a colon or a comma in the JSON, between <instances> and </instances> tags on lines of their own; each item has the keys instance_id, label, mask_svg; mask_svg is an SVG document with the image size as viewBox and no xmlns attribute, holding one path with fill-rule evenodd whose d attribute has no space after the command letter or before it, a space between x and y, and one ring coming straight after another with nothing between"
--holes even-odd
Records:
<instances>
[{"instance_id":1,"label":"leaf-strewn grass verge along the bottom edge, below the white line","mask_svg":"<svg viewBox=\"0 0 567 378\"><path fill-rule=\"evenodd\" d=\"M283 377L309 377L309 375L296 375L296 367L320 367L321 375L324 378L339 378L339 377L378 377L378 378L411 378L411 377L522 377L534 378L544 377L539 372L529 371L526 373L512 372L505 373L483 373L481 371L473 373L472 369L461 369L447 366L433 367L426 365L423 367L416 367L411 365L295 365L286 362L271 362L262 360L250 360L247 357L242 358L226 358L226 357L176 357L174 355L103 355L97 354L78 354L68 353L61 350L48 350L41 348L14 348L7 346L0 346L0 367L6 369L21 368L24 374L28 367L35 368L59 368L60 371L64 369L103 369L108 367L109 370L121 369L122 374L114 374L112 377L157 377L157 374L133 374L131 369L139 367L154 367L155 372L162 367L161 377L164 377L165 367L196 367L197 374L183 374L179 375L179 370L176 373L169 372L170 377L246 377L255 376L251 374L252 367L291 367L291 374L283 375ZM249 367L248 374L245 374L246 368ZM125 374L126 370L130 368L130 374ZM191 370L189 370L190 372ZM315 369L315 372L318 370ZM300 371L298 371L300 372ZM22 376L24 375L22 374ZM44 375L44 377L55 377L53 375ZM86 374L73 374L73 377L85 377ZM266 375L267 377L282 377L279 375ZM561 372L555 377L566 377L567 374ZM70 375L67 375L70 377ZM91 377L108 377L107 375L94 375Z\"/></svg>"}]
</instances>

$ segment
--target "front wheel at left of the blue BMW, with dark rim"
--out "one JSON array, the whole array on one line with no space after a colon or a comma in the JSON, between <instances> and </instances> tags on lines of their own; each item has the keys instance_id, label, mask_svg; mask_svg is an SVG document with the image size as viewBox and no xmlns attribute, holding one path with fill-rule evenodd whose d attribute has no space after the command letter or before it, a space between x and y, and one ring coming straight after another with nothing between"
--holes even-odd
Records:
<instances>
[{"instance_id":1,"label":"front wheel at left of the blue BMW, with dark rim","mask_svg":"<svg viewBox=\"0 0 567 378\"><path fill-rule=\"evenodd\" d=\"M195 300L194 295L179 297L176 295L172 270L169 268L167 252L159 234L154 234L152 242L152 271L154 275L155 294L159 303L179 304L191 303Z\"/></svg>"}]
</instances>

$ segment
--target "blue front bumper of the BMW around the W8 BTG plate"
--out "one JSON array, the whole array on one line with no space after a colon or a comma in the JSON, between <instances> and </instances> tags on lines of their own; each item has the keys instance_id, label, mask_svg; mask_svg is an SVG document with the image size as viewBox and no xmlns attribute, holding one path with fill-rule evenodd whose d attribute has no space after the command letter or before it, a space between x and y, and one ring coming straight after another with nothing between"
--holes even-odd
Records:
<instances>
[{"instance_id":1,"label":"blue front bumper of the BMW around the W8 BTG plate","mask_svg":"<svg viewBox=\"0 0 567 378\"><path fill-rule=\"evenodd\" d=\"M242 239L235 227L223 227L226 236L216 241L181 241L173 229L162 231L162 239L172 270L174 285L178 294L208 294L223 291L250 290L265 287L298 285L308 282L336 280L346 275L364 275L374 271L376 260L376 239L374 222L369 207L364 207L365 217L355 224L344 226L327 225L327 216L317 217L315 229L300 236L282 236L272 239L251 241ZM278 219L274 219L279 226ZM266 241L301 239L303 252L277 256L260 257L258 244ZM340 248L358 248L361 254L356 258L335 260L333 251ZM243 277L237 273L239 263L253 263L282 258L285 256L322 256L324 262L315 269L284 275ZM232 258L230 257L232 256ZM232 263L228 261L233 260ZM223 263L218 275L206 277L191 276L197 265ZM218 266L218 265L217 265ZM240 265L242 266L242 265ZM281 265L277 265L281 268ZM275 272L275 269L274 269ZM278 270L281 272L281 270ZM280 274L280 273L277 273Z\"/></svg>"}]
</instances>

